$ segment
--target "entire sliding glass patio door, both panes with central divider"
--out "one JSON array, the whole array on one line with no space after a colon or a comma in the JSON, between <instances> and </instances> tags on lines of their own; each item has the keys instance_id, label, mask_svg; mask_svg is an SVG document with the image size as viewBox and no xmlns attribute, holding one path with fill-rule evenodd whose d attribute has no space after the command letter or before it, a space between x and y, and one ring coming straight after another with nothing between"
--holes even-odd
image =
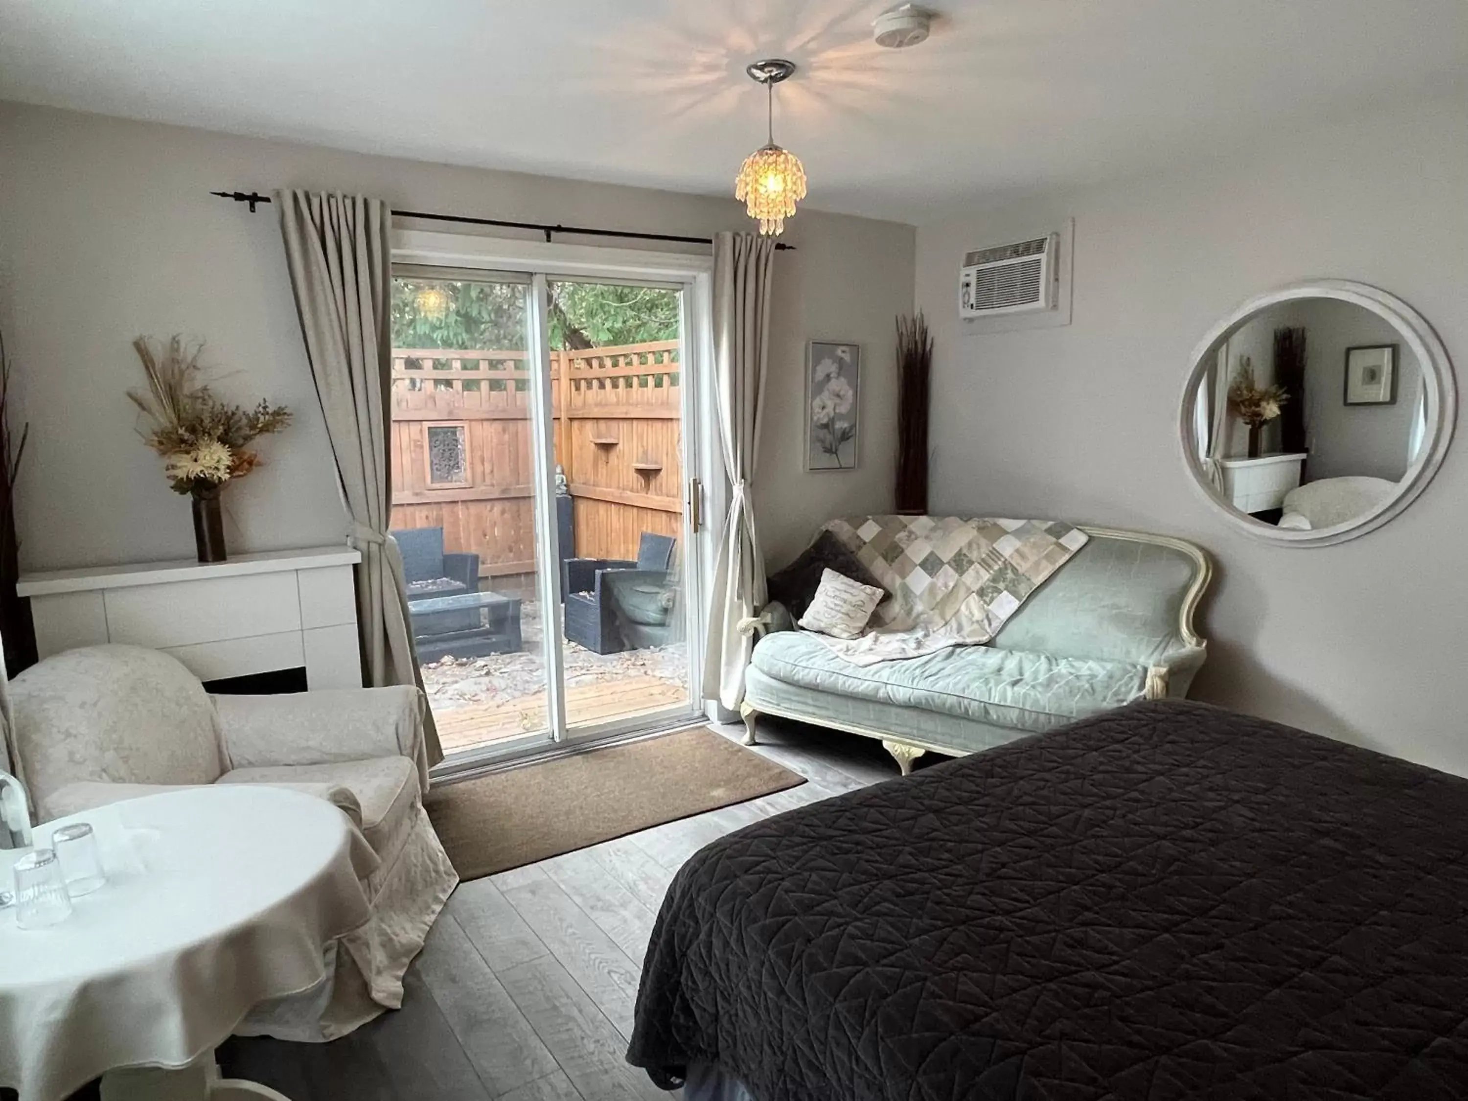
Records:
<instances>
[{"instance_id":1,"label":"entire sliding glass patio door, both panes with central divider","mask_svg":"<svg viewBox=\"0 0 1468 1101\"><path fill-rule=\"evenodd\" d=\"M395 269L392 528L451 765L693 715L686 314L675 283Z\"/></svg>"}]
</instances>

